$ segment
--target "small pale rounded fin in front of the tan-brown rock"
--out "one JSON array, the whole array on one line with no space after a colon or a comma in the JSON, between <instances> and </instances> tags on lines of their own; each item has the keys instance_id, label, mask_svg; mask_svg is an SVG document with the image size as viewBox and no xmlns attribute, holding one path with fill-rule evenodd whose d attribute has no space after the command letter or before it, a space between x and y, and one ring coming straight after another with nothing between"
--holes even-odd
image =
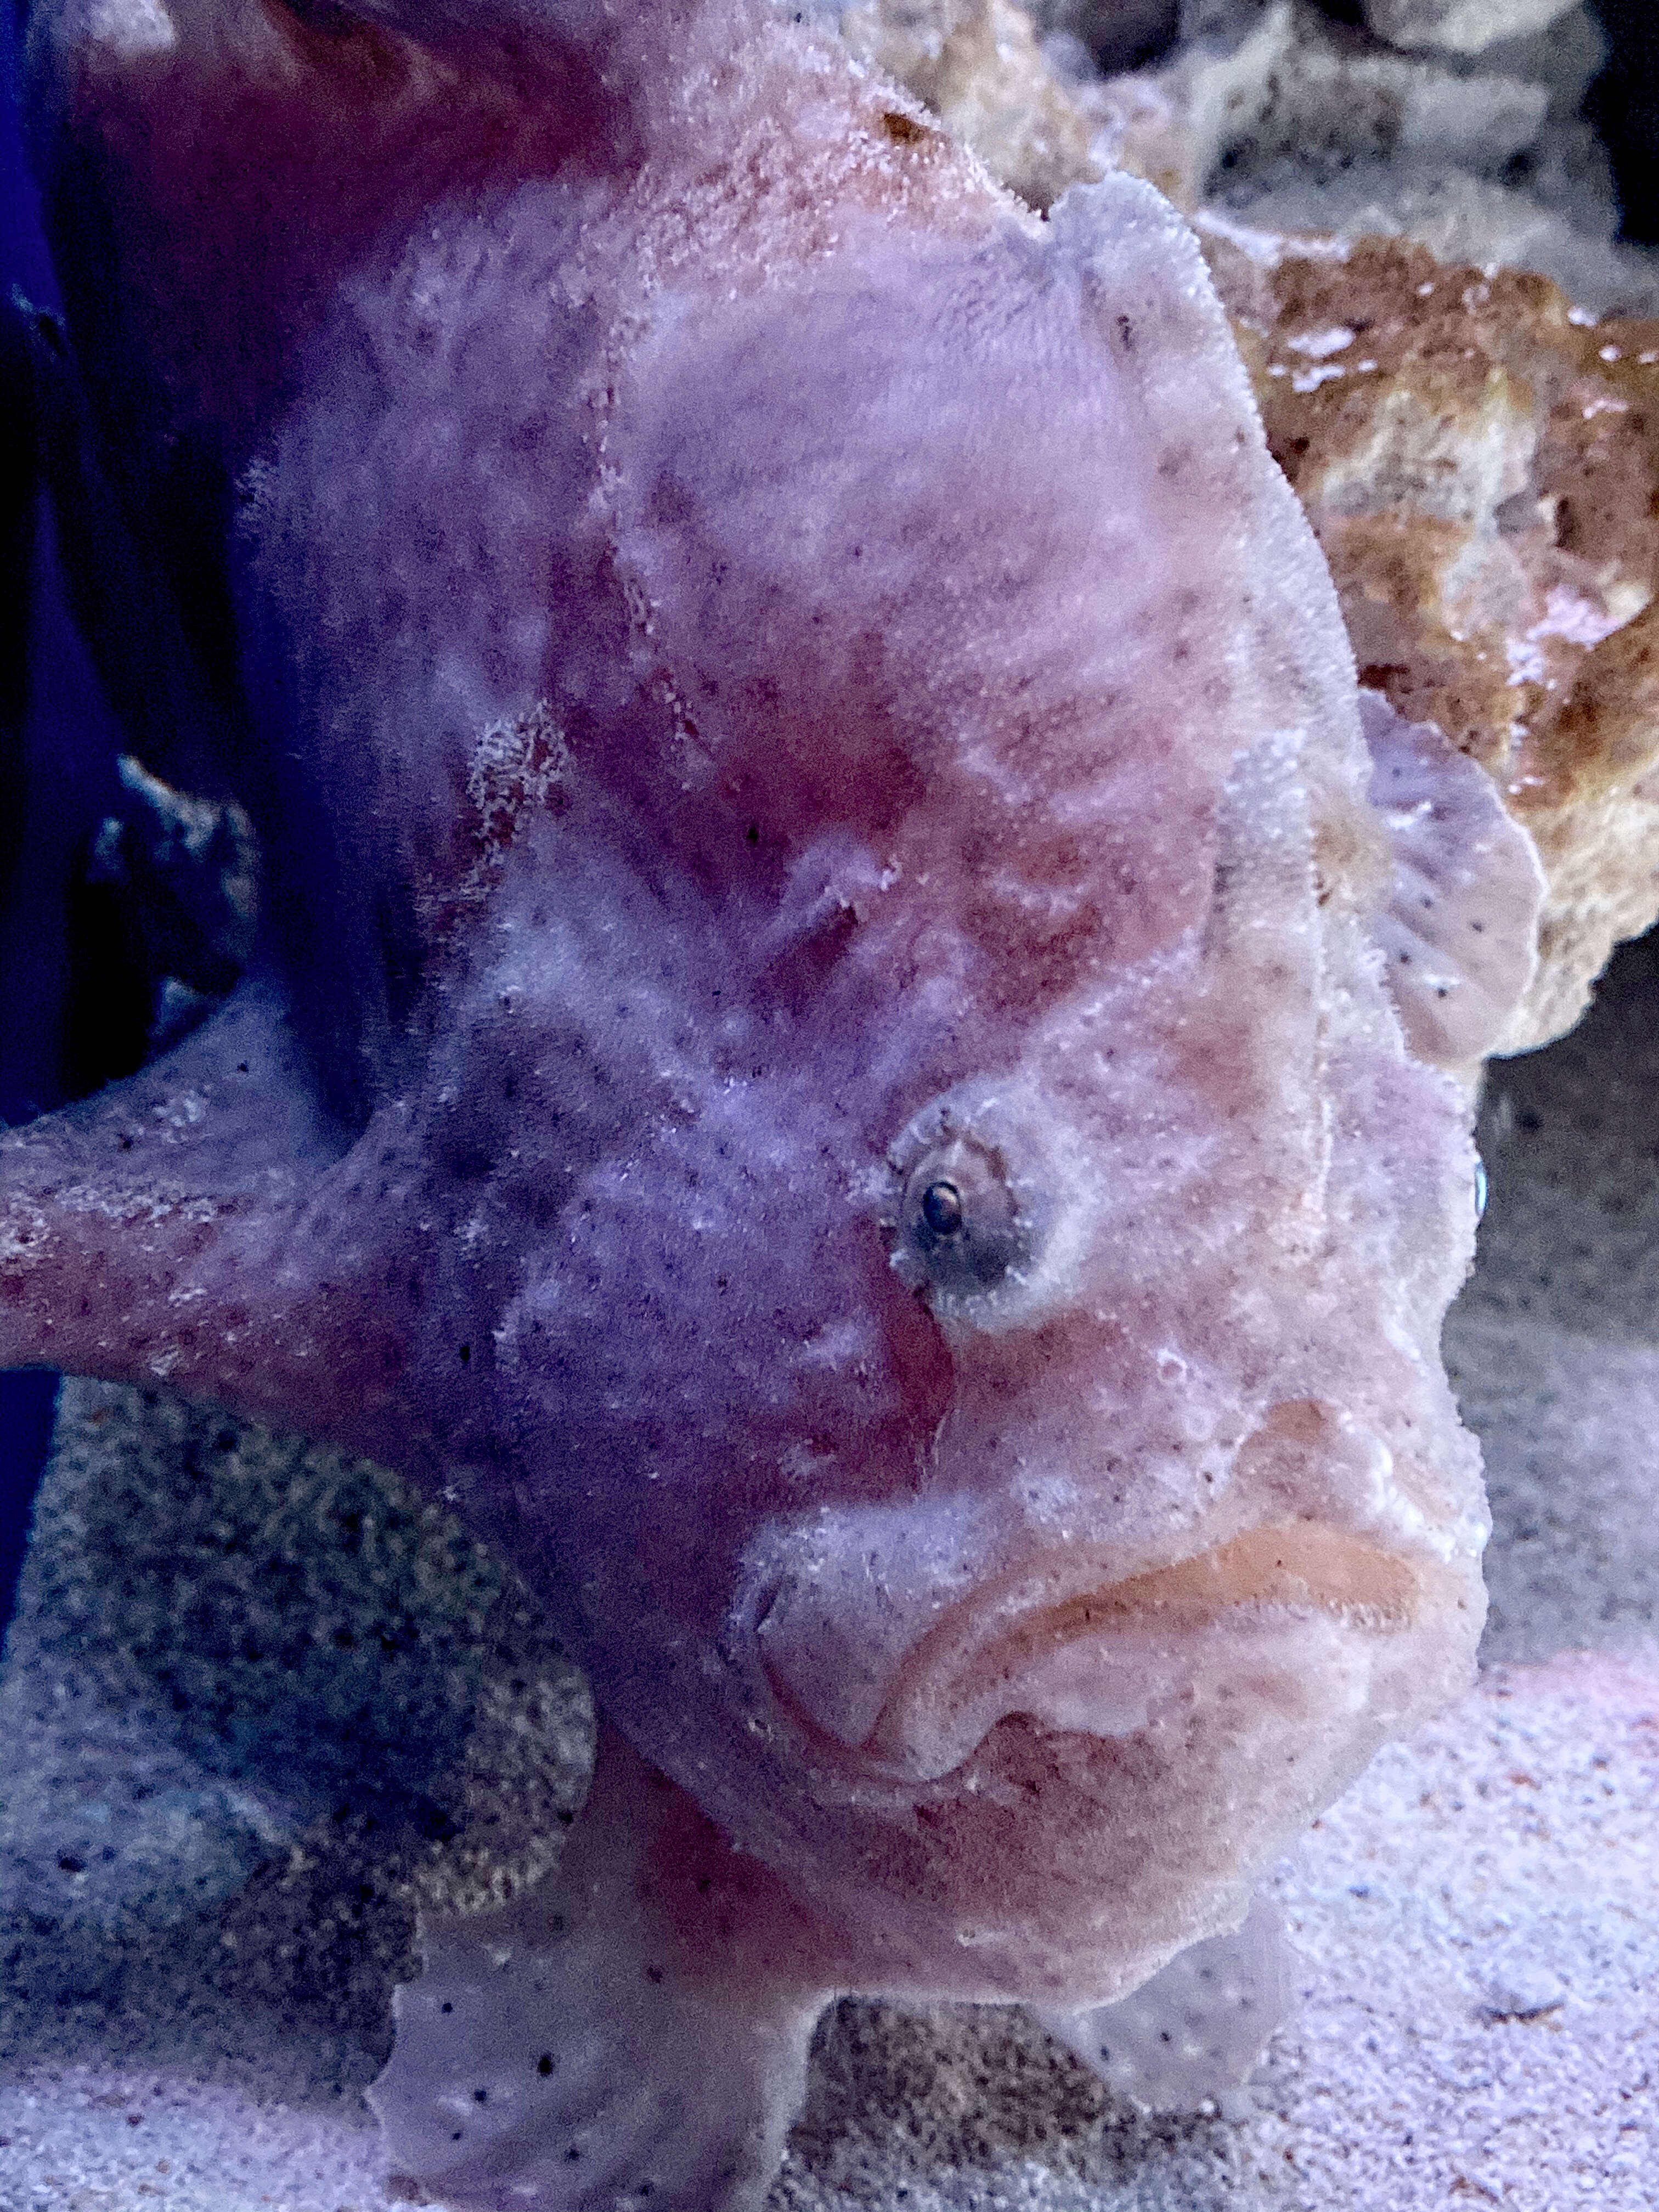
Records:
<instances>
[{"instance_id":1,"label":"small pale rounded fin in front of the tan-brown rock","mask_svg":"<svg viewBox=\"0 0 1659 2212\"><path fill-rule=\"evenodd\" d=\"M1407 1044L1471 1073L1504 1035L1537 969L1544 869L1491 776L1431 721L1360 692L1371 805L1394 841L1374 933Z\"/></svg>"}]
</instances>

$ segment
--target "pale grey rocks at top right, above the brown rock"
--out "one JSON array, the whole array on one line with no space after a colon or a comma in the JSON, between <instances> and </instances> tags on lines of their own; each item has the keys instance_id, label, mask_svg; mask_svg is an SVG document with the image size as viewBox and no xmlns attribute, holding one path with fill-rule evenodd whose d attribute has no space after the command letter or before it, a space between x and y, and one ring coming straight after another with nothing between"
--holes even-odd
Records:
<instances>
[{"instance_id":1,"label":"pale grey rocks at top right, above the brown rock","mask_svg":"<svg viewBox=\"0 0 1659 2212\"><path fill-rule=\"evenodd\" d=\"M987 166L1042 204L1128 168L1177 206L1261 230L1409 237L1451 263L1553 276L1582 305L1659 303L1652 252L1617 243L1608 153L1584 115L1608 58L1586 4L1469 0L1402 49L1314 0L812 0ZM1177 35L1183 33L1183 35Z\"/></svg>"}]
</instances>

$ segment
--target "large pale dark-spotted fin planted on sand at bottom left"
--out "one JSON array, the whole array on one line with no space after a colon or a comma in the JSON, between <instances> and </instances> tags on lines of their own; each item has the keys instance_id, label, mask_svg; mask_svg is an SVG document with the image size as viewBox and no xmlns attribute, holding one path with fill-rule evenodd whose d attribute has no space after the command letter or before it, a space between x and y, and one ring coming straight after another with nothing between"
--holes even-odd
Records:
<instances>
[{"instance_id":1,"label":"large pale dark-spotted fin planted on sand at bottom left","mask_svg":"<svg viewBox=\"0 0 1659 2212\"><path fill-rule=\"evenodd\" d=\"M830 1991L772 1876L619 1734L557 1876L422 1944L369 2093L394 2174L491 2212L761 2203Z\"/></svg>"}]
</instances>

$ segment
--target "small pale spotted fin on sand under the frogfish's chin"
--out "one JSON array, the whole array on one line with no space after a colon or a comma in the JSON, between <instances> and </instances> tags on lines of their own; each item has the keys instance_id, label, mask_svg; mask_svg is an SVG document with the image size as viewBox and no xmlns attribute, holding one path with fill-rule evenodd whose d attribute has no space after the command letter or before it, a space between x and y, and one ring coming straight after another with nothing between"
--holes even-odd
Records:
<instances>
[{"instance_id":1,"label":"small pale spotted fin on sand under the frogfish's chin","mask_svg":"<svg viewBox=\"0 0 1659 2212\"><path fill-rule=\"evenodd\" d=\"M1256 1898L1234 1936L1194 1942L1117 2004L1037 2022L1148 2112L1197 2112L1243 2084L1290 2006L1279 1909Z\"/></svg>"}]
</instances>

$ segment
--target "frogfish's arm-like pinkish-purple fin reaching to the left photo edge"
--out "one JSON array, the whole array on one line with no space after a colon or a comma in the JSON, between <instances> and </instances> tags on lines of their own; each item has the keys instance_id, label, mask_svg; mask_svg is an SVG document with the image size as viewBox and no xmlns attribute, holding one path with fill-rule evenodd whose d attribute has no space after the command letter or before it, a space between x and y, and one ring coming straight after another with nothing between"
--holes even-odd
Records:
<instances>
[{"instance_id":1,"label":"frogfish's arm-like pinkish-purple fin reaching to the left photo edge","mask_svg":"<svg viewBox=\"0 0 1659 2212\"><path fill-rule=\"evenodd\" d=\"M257 984L131 1082L2 1130L0 1365L166 1380L330 1433L374 1358L330 1318L352 1292L349 1221L314 1234L341 1152Z\"/></svg>"}]
</instances>

